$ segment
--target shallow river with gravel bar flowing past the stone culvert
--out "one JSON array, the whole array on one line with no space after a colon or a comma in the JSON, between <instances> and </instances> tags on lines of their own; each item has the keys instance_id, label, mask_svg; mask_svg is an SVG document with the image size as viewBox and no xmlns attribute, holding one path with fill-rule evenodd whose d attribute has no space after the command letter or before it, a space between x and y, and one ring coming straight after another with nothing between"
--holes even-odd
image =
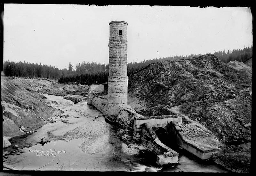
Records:
<instances>
[{"instance_id":1,"label":"shallow river with gravel bar flowing past the stone culvert","mask_svg":"<svg viewBox=\"0 0 256 176\"><path fill-rule=\"evenodd\" d=\"M143 146L133 144L131 147L121 142L118 135L121 129L106 123L103 114L94 106L86 102L74 103L62 96L43 95L52 107L63 110L64 115L69 114L66 118L69 123L48 123L35 133L12 138L12 145L25 146L24 153L9 155L4 164L17 170L228 172L219 165L200 161L182 151L178 151L179 165L160 168ZM75 128L78 129L74 135L78 133L81 137L64 135ZM39 144L43 137L51 142ZM128 138L132 139L132 136Z\"/></svg>"}]
</instances>

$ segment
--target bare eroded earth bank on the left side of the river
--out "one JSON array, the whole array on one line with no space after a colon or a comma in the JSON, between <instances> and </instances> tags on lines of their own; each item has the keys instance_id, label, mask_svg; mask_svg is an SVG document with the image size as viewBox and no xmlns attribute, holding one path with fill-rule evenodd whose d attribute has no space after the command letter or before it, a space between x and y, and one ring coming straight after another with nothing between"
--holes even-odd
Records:
<instances>
[{"instance_id":1,"label":"bare eroded earth bank on the left side of the river","mask_svg":"<svg viewBox=\"0 0 256 176\"><path fill-rule=\"evenodd\" d=\"M1 77L3 136L18 136L43 125L54 112L35 89L53 85L49 79Z\"/></svg>"}]
</instances>

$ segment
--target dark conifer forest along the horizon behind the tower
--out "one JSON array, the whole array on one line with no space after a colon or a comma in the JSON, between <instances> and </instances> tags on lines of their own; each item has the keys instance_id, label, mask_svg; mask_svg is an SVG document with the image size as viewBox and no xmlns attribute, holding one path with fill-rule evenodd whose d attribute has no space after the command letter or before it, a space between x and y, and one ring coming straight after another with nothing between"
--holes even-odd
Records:
<instances>
[{"instance_id":1,"label":"dark conifer forest along the horizon behind the tower","mask_svg":"<svg viewBox=\"0 0 256 176\"><path fill-rule=\"evenodd\" d=\"M211 54L211 53L206 53ZM231 51L216 51L213 53L221 61L228 63L229 61L245 62L252 57L252 46L244 49L234 49ZM127 64L127 75L132 75L135 71L138 71L150 63L164 60L179 60L188 59L191 57L198 57L202 54L197 55L186 55L186 56L168 56L163 58L153 58L144 60L141 62L131 62ZM71 62L68 64L68 68L60 69L55 66L37 64L37 63L26 63L24 62L10 62L5 61L3 65L3 72L5 76L14 77L44 77L48 79L59 79L59 83L81 83L81 84L103 84L108 82L108 64L97 63L97 62L82 62L76 64L73 68Z\"/></svg>"}]
</instances>

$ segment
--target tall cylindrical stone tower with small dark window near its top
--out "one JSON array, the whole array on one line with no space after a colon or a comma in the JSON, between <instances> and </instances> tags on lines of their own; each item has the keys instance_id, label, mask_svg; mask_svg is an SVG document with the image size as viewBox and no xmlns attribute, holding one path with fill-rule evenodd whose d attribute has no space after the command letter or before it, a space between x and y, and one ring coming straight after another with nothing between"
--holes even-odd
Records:
<instances>
[{"instance_id":1,"label":"tall cylindrical stone tower with small dark window near its top","mask_svg":"<svg viewBox=\"0 0 256 176\"><path fill-rule=\"evenodd\" d=\"M127 104L127 25L124 21L109 23L108 107Z\"/></svg>"}]
</instances>

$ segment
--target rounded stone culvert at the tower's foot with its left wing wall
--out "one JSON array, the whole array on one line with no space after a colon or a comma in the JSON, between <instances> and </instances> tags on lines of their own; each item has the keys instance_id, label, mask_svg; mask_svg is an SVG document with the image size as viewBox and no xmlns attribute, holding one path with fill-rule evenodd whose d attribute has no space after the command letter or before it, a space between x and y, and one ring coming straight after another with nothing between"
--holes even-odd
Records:
<instances>
[{"instance_id":1,"label":"rounded stone culvert at the tower's foot with its left wing wall","mask_svg":"<svg viewBox=\"0 0 256 176\"><path fill-rule=\"evenodd\" d=\"M162 166L177 163L179 154L161 143L151 125L154 127L159 125L166 126L169 121L178 117L166 116L164 120L160 119L161 116L156 118L144 117L136 113L131 106L126 104L109 106L108 99L98 95L93 96L92 105L100 110L108 121L114 122L119 127L136 133L137 136L134 135L133 138L156 156L157 165Z\"/></svg>"}]
</instances>

